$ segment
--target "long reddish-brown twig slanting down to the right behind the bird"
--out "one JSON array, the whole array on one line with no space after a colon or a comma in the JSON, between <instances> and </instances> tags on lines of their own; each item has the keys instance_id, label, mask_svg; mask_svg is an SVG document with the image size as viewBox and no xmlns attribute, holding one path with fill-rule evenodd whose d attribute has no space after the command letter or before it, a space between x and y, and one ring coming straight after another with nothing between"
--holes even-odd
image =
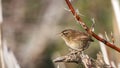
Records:
<instances>
[{"instance_id":1,"label":"long reddish-brown twig slanting down to the right behind the bird","mask_svg":"<svg viewBox=\"0 0 120 68\"><path fill-rule=\"evenodd\" d=\"M105 45L109 46L110 48L120 52L120 48L118 48L116 45L106 41L105 39L99 37L97 34L95 34L89 27L86 26L86 24L82 21L82 19L80 18L80 16L76 13L75 9L73 8L72 4L70 3L69 0L65 0L70 11L72 12L72 14L74 15L75 19L79 22L79 24L87 31L87 33L89 33L91 36L93 36L94 38L96 38L97 40L103 42Z\"/></svg>"}]
</instances>

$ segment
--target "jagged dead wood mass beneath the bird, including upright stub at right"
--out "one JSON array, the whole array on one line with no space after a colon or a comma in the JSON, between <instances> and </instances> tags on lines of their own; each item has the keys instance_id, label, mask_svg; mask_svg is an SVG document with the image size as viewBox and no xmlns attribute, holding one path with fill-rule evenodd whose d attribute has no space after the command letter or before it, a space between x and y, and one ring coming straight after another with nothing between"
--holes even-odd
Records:
<instances>
[{"instance_id":1,"label":"jagged dead wood mass beneath the bird, including upright stub at right","mask_svg":"<svg viewBox=\"0 0 120 68\"><path fill-rule=\"evenodd\" d=\"M84 53L70 53L65 56L57 57L53 62L82 63L85 68L111 68L104 62L102 53L97 54L97 59L93 59Z\"/></svg>"}]
</instances>

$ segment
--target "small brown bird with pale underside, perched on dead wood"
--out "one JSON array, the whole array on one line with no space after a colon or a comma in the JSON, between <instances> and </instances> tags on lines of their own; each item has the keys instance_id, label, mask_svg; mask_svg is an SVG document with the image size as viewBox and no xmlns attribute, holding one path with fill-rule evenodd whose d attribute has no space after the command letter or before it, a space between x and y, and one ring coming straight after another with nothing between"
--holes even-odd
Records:
<instances>
[{"instance_id":1,"label":"small brown bird with pale underside, perched on dead wood","mask_svg":"<svg viewBox=\"0 0 120 68\"><path fill-rule=\"evenodd\" d=\"M59 35L75 51L84 51L94 41L88 33L73 29L65 29Z\"/></svg>"}]
</instances>

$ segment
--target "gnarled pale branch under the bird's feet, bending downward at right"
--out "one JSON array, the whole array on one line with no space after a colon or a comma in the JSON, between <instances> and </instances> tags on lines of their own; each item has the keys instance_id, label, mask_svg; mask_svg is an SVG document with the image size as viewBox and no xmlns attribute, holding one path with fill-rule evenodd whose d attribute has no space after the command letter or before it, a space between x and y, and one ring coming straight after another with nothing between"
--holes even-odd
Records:
<instances>
[{"instance_id":1,"label":"gnarled pale branch under the bird's feet, bending downward at right","mask_svg":"<svg viewBox=\"0 0 120 68\"><path fill-rule=\"evenodd\" d=\"M90 68L95 66L95 61L84 53L70 53L62 57L57 57L53 60L54 62L66 62L66 63L83 63L85 68Z\"/></svg>"}]
</instances>

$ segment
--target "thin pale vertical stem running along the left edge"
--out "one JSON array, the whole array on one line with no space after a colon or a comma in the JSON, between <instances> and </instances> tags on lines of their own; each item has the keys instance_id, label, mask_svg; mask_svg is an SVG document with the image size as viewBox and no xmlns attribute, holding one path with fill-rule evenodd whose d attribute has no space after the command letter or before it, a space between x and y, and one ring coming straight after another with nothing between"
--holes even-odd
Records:
<instances>
[{"instance_id":1,"label":"thin pale vertical stem running along the left edge","mask_svg":"<svg viewBox=\"0 0 120 68\"><path fill-rule=\"evenodd\" d=\"M0 0L0 60L1 60L1 68L5 68L4 57L3 57L3 45L2 45L2 1Z\"/></svg>"}]
</instances>

